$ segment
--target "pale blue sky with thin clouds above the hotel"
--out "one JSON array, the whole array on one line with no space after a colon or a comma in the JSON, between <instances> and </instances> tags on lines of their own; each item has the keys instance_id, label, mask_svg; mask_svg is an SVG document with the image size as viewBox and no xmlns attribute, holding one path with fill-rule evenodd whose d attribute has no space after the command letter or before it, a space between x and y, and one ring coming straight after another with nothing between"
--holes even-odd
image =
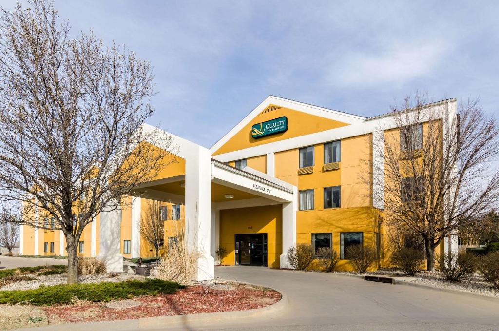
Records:
<instances>
[{"instance_id":1,"label":"pale blue sky with thin clouds above the hotel","mask_svg":"<svg viewBox=\"0 0 499 331\"><path fill-rule=\"evenodd\" d=\"M444 2L55 5L73 33L92 28L152 63L150 124L211 147L269 94L372 116L419 90L433 101L480 96L498 113L499 2Z\"/></svg>"}]
</instances>

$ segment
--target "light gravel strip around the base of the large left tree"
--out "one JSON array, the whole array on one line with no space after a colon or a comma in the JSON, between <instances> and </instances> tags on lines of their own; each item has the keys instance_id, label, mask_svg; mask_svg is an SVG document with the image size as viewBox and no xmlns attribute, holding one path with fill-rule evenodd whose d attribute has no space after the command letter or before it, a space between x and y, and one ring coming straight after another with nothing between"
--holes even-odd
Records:
<instances>
[{"instance_id":1,"label":"light gravel strip around the base of the large left tree","mask_svg":"<svg viewBox=\"0 0 499 331\"><path fill-rule=\"evenodd\" d=\"M51 286L57 284L66 284L67 278L65 274L62 275L47 275L47 276L33 276L33 280L18 281L15 283L7 284L0 288L0 291L8 290L31 290L37 289L40 286ZM129 279L143 280L144 277L137 276L129 273L114 273L114 274L101 274L91 276L78 277L80 283L100 283L100 282L122 282Z\"/></svg>"}]
</instances>

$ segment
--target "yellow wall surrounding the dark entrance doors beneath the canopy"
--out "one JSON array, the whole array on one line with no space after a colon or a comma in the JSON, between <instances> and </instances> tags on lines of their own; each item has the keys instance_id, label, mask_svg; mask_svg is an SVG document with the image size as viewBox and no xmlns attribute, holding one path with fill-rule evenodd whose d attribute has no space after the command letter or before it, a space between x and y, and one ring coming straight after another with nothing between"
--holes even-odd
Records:
<instances>
[{"instance_id":1,"label":"yellow wall surrounding the dark entrance doors beneath the canopy","mask_svg":"<svg viewBox=\"0 0 499 331\"><path fill-rule=\"evenodd\" d=\"M282 254L282 206L261 206L220 211L220 247L227 249L222 264L235 264L235 235L266 233L267 266L279 268Z\"/></svg>"}]
</instances>

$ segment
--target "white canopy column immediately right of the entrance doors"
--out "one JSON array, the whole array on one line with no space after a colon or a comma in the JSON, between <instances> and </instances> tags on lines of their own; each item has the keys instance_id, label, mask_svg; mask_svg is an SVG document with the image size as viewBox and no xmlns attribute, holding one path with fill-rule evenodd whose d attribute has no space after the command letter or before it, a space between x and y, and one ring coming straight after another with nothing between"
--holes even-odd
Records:
<instances>
[{"instance_id":1,"label":"white canopy column immediately right of the entrance doors","mask_svg":"<svg viewBox=\"0 0 499 331\"><path fill-rule=\"evenodd\" d=\"M287 260L287 251L296 245L296 211L298 205L298 189L293 189L293 201L282 204L282 254L280 268L291 269Z\"/></svg>"}]
</instances>

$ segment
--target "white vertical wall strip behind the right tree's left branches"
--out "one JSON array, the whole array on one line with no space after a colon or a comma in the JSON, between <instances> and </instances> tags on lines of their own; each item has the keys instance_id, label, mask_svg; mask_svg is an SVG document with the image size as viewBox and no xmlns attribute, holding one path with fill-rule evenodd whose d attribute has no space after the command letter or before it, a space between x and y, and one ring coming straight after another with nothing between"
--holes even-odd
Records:
<instances>
[{"instance_id":1,"label":"white vertical wall strip behind the right tree's left branches","mask_svg":"<svg viewBox=\"0 0 499 331\"><path fill-rule=\"evenodd\" d=\"M383 130L373 132L373 206L378 209L385 208L385 136Z\"/></svg>"}]
</instances>

